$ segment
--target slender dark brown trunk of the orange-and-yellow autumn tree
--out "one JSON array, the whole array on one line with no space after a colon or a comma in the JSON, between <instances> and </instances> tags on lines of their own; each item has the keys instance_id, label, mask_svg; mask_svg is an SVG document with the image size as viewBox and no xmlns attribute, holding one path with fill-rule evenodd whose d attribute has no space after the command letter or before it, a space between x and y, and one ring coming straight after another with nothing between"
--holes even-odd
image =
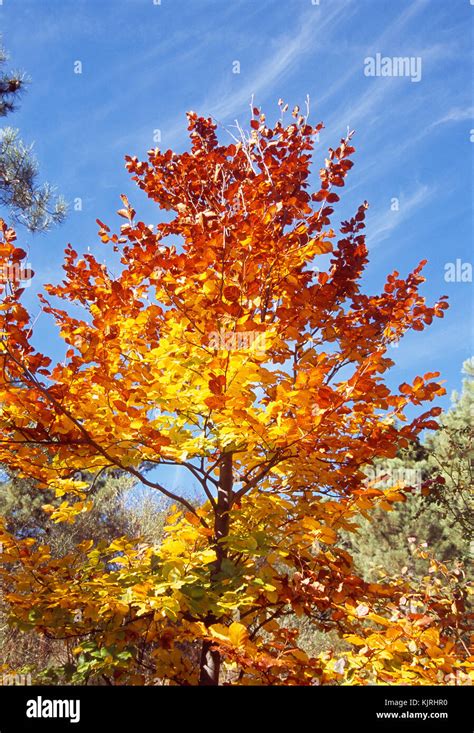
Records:
<instances>
[{"instance_id":1,"label":"slender dark brown trunk of the orange-and-yellow autumn tree","mask_svg":"<svg viewBox=\"0 0 474 733\"><path fill-rule=\"evenodd\" d=\"M214 521L214 547L217 557L211 569L211 584L220 573L222 561L226 556L226 548L221 542L219 542L219 540L227 537L229 533L229 511L232 506L232 484L232 453L225 453L222 457L219 487L217 489L217 506L215 509ZM209 616L206 619L206 626L211 626L211 624L216 623L216 620L217 619L212 616ZM220 666L221 656L219 652L212 649L211 642L203 642L199 685L218 685Z\"/></svg>"}]
</instances>

